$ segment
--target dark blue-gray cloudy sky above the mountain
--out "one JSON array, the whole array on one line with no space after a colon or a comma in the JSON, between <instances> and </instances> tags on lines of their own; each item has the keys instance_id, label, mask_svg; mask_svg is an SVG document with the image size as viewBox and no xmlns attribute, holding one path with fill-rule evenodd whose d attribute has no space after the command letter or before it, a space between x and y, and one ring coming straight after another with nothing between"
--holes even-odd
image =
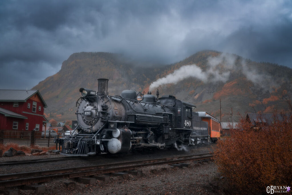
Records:
<instances>
[{"instance_id":1,"label":"dark blue-gray cloudy sky above the mountain","mask_svg":"<svg viewBox=\"0 0 292 195\"><path fill-rule=\"evenodd\" d=\"M292 68L292 1L0 1L0 89L31 89L75 52L169 64L205 49Z\"/></svg>"}]
</instances>

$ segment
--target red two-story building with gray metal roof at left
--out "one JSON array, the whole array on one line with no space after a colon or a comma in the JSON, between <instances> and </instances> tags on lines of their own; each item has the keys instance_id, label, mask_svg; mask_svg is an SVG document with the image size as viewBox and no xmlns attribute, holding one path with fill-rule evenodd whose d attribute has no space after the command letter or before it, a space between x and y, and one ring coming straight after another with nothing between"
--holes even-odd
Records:
<instances>
[{"instance_id":1,"label":"red two-story building with gray metal roof at left","mask_svg":"<svg viewBox=\"0 0 292 195\"><path fill-rule=\"evenodd\" d=\"M0 89L0 130L42 131L46 107L38 90Z\"/></svg>"}]
</instances>

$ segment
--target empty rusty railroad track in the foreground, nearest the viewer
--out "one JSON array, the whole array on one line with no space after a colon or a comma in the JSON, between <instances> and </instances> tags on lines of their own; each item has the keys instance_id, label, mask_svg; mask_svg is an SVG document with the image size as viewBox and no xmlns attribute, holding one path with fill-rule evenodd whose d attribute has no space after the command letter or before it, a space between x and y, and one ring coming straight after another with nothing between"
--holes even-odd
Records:
<instances>
[{"instance_id":1,"label":"empty rusty railroad track in the foreground, nearest the viewer","mask_svg":"<svg viewBox=\"0 0 292 195\"><path fill-rule=\"evenodd\" d=\"M206 155L206 156L203 156ZM201 156L201 157L194 157ZM14 173L7 175L0 175L0 189L6 187L14 187L20 185L29 185L33 183L48 182L49 180L58 178L76 178L84 176L92 176L98 174L121 172L126 170L133 170L144 166L161 165L161 164L174 164L185 161L199 161L211 158L213 155L199 154L187 155L174 158L157 158L150 160L130 161L122 163L111 163L103 165L93 165L86 167L65 168L56 170L44 170L35 172Z\"/></svg>"}]
</instances>

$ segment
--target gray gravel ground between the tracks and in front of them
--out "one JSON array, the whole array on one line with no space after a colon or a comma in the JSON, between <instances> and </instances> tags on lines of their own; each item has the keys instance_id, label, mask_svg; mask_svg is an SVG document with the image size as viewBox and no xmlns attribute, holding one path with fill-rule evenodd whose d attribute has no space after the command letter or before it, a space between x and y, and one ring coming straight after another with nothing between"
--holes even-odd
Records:
<instances>
[{"instance_id":1,"label":"gray gravel ground between the tracks and in front of them","mask_svg":"<svg viewBox=\"0 0 292 195\"><path fill-rule=\"evenodd\" d=\"M214 146L214 145L213 145ZM167 156L181 156L193 153L208 153L213 151L212 146L193 147L188 151L164 150L150 153L137 153L133 155L103 156L89 159L76 159L56 161L54 163L32 163L27 165L9 165L0 170L0 174L29 172L37 170L59 169L68 167L80 167L121 161L134 161L150 158L164 158ZM21 158L22 157L22 158ZM24 157L24 158L23 158ZM47 158L61 157L50 155ZM13 158L13 159L12 159ZM44 156L15 156L10 161L44 158ZM1 159L2 160L2 159ZM43 185L46 186L44 194L222 194L218 187L220 175L213 162L196 164L192 161L189 168L176 168L169 165L155 165L143 167L142 177L129 175L127 180L121 177L110 177L108 183L96 180L93 185L82 184L75 179L52 180ZM65 183L73 182L75 187L67 187ZM34 194L34 190L20 190L21 194Z\"/></svg>"}]
</instances>

